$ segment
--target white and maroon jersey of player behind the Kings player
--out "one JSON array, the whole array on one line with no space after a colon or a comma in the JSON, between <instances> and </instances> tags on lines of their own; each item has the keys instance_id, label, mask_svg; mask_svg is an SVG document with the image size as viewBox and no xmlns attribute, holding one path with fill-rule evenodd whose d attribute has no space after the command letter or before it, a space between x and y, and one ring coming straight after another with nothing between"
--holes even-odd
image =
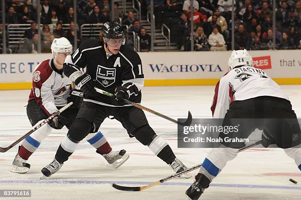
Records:
<instances>
[{"instance_id":1,"label":"white and maroon jersey of player behind the Kings player","mask_svg":"<svg viewBox=\"0 0 301 200\"><path fill-rule=\"evenodd\" d=\"M58 111L57 106L67 104L71 83L54 66L53 59L44 60L34 69L29 101L34 99L46 114L53 114Z\"/></svg>"}]
</instances>

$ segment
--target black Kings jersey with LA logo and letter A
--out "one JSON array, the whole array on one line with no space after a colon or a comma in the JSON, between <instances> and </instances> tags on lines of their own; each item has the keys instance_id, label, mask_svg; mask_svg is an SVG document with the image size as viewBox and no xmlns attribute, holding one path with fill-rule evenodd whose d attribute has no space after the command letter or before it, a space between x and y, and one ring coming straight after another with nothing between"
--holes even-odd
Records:
<instances>
[{"instance_id":1,"label":"black Kings jersey with LA logo and letter A","mask_svg":"<svg viewBox=\"0 0 301 200\"><path fill-rule=\"evenodd\" d=\"M105 52L102 41L84 40L79 49L65 59L63 71L67 77L74 81L73 77L82 74L81 68L85 68L85 73L96 80L98 88L115 93L117 86L124 86L130 91L130 101L141 102L141 88L144 86L141 59L135 51L126 45L122 45L120 52L113 55ZM84 101L114 106L110 97L103 94L85 96Z\"/></svg>"}]
</instances>

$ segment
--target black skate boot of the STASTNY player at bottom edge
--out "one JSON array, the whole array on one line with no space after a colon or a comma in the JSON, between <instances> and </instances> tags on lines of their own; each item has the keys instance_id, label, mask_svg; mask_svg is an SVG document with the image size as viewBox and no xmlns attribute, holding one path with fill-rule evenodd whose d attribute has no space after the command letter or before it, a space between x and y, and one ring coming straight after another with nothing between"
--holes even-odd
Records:
<instances>
[{"instance_id":1,"label":"black skate boot of the STASTNY player at bottom edge","mask_svg":"<svg viewBox=\"0 0 301 200\"><path fill-rule=\"evenodd\" d=\"M189 200L198 200L210 184L210 180L202 173L198 173L195 179L194 183L185 192Z\"/></svg>"}]
</instances>

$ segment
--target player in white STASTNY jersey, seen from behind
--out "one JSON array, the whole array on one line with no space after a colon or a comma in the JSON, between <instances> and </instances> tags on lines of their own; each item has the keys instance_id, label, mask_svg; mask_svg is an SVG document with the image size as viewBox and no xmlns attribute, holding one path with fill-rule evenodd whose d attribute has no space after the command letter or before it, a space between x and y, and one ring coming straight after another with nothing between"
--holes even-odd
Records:
<instances>
[{"instance_id":1,"label":"player in white STASTNY jersey, seen from behind","mask_svg":"<svg viewBox=\"0 0 301 200\"><path fill-rule=\"evenodd\" d=\"M252 57L247 50L233 51L228 64L229 72L215 87L211 106L213 118L224 118L223 125L229 125L233 118L248 119L242 124L245 138L255 128L263 129L262 144L265 147L276 144L283 148L301 171L301 131L289 98L266 72L253 67ZM272 123L262 123L266 120ZM234 159L239 148L245 144L238 143L235 147L225 145L208 153L195 182L186 190L190 200L199 199L226 163Z\"/></svg>"}]
</instances>

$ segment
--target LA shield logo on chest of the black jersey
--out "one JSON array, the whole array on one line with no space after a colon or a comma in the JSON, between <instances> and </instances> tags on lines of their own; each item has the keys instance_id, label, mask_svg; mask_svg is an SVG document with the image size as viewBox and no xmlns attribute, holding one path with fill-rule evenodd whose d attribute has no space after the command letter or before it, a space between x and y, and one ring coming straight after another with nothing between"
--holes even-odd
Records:
<instances>
[{"instance_id":1,"label":"LA shield logo on chest of the black jersey","mask_svg":"<svg viewBox=\"0 0 301 200\"><path fill-rule=\"evenodd\" d=\"M115 83L116 68L107 68L97 65L96 81L102 86L107 87Z\"/></svg>"}]
</instances>

